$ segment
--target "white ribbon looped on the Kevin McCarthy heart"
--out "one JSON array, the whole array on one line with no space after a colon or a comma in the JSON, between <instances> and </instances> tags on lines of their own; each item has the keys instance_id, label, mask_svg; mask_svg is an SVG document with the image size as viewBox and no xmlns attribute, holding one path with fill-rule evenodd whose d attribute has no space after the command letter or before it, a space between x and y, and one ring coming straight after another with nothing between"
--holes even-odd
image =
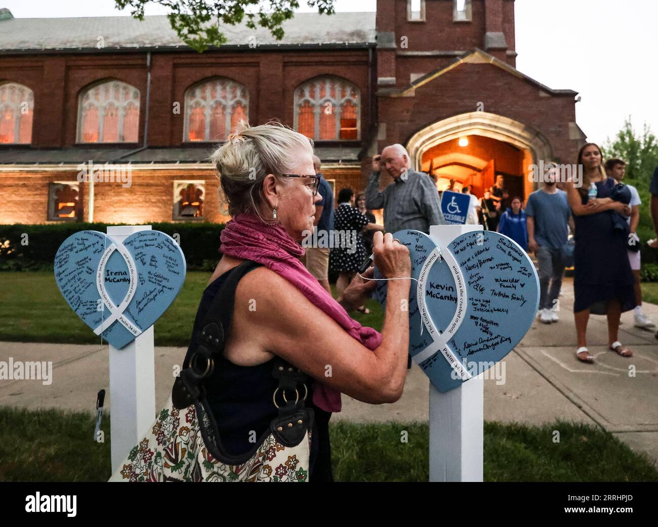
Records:
<instances>
[{"instance_id":1,"label":"white ribbon looped on the Kevin McCarthy heart","mask_svg":"<svg viewBox=\"0 0 658 527\"><path fill-rule=\"evenodd\" d=\"M455 285L457 285L457 309L455 310L455 315L450 321L447 329L443 333L440 333L438 329L436 329L436 325L434 324L432 315L430 315L430 311L427 309L425 302L425 282L427 277L430 275L430 269L432 269L432 265L440 261L442 256L445 260L445 263L448 264L448 267L452 272L452 275L455 279ZM418 302L418 308L420 309L420 317L422 319L422 323L426 325L428 332L432 337L432 344L411 357L413 361L420 365L420 363L426 361L435 354L441 353L448 364L451 365L453 370L455 370L455 373L459 376L459 378L461 378L461 380L468 380L471 378L472 375L470 375L467 369L463 367L457 355L455 355L453 350L451 350L448 346L448 341L453 338L453 335L457 332L457 329L459 329L459 326L461 326L461 323L463 322L468 300L466 287L464 285L464 276L461 273L461 269L459 269L459 265L457 265L457 260L455 260L455 257L450 251L446 251L445 254L442 255L441 249L437 247L432 252L430 252L430 256L428 256L425 260L422 269L420 269L420 275L418 275L416 300Z\"/></svg>"}]
</instances>

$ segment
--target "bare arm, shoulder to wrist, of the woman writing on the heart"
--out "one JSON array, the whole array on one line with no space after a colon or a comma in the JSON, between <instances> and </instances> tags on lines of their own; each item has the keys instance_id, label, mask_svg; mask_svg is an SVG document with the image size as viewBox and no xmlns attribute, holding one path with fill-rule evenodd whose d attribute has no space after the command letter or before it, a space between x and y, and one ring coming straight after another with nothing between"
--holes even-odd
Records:
<instances>
[{"instance_id":1,"label":"bare arm, shoulder to wrist, of the woman writing on the heart","mask_svg":"<svg viewBox=\"0 0 658 527\"><path fill-rule=\"evenodd\" d=\"M388 283L382 344L369 350L297 287L261 267L238 284L234 317L247 323L254 345L279 355L323 384L367 403L397 401L404 387L409 350L409 279ZM249 311L249 303L255 310ZM249 338L251 340L251 338Z\"/></svg>"}]
</instances>

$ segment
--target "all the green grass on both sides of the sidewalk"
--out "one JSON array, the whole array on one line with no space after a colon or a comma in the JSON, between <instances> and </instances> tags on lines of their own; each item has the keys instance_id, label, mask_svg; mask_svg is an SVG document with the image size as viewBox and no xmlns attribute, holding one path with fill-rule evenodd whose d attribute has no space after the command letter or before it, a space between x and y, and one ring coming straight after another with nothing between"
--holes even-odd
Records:
<instances>
[{"instance_id":1,"label":"all the green grass on both sides of the sidewalk","mask_svg":"<svg viewBox=\"0 0 658 527\"><path fill-rule=\"evenodd\" d=\"M210 273L188 273L184 288L156 323L155 343L186 346ZM93 335L62 298L52 273L0 273L0 340L93 344ZM658 303L658 283L643 284ZM334 292L335 293L335 292ZM352 313L380 329L383 314L370 300L369 315ZM109 418L105 443L92 440L86 413L0 407L0 481L104 481L110 475ZM401 442L407 431L409 441ZM559 430L561 442L553 443ZM426 481L425 423L331 426L334 476L339 481ZM543 427L484 424L487 481L658 481L647 457L636 455L597 428L553 423Z\"/></svg>"}]
</instances>

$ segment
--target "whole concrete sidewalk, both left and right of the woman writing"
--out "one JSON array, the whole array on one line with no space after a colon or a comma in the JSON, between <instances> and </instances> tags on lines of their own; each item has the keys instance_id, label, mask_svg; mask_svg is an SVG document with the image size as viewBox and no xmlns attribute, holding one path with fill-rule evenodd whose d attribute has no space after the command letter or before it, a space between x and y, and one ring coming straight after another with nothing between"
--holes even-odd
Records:
<instances>
[{"instance_id":1,"label":"whole concrete sidewalk, both left and right of the woman writing","mask_svg":"<svg viewBox=\"0 0 658 527\"><path fill-rule=\"evenodd\" d=\"M536 321L509 354L499 380L484 381L484 418L488 421L542 424L565 419L601 426L632 449L645 452L658 467L658 340L655 331L633 327L632 311L622 315L619 340L633 350L630 359L607 350L605 317L592 316L588 346L595 363L576 359L572 313L573 288L565 280L560 296L560 321ZM644 304L645 314L658 323L658 306ZM174 381L186 348L155 349L156 405L160 409ZM108 386L108 348L70 344L0 342L0 360L53 361L53 382L0 380L0 405L59 407L89 411L96 394ZM633 365L636 375L629 375ZM504 380L504 382L501 382ZM343 396L343 411L332 419L349 421L426 421L428 379L414 365L397 403L368 405ZM108 394L109 395L109 394ZM106 398L109 407L109 396Z\"/></svg>"}]
</instances>

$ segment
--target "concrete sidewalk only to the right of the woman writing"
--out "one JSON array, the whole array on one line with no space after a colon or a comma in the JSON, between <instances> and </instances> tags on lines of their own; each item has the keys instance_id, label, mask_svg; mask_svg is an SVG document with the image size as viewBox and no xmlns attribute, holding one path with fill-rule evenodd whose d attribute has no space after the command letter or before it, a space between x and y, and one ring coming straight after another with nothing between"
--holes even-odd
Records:
<instances>
[{"instance_id":1,"label":"concrete sidewalk only to the right of the woman writing","mask_svg":"<svg viewBox=\"0 0 658 527\"><path fill-rule=\"evenodd\" d=\"M633 312L622 314L619 341L634 356L608 350L605 316L592 315L588 348L594 364L576 358L573 283L565 279L559 297L560 321L536 320L519 345L505 357L505 382L484 381L484 419L505 423L549 423L564 419L589 423L612 432L629 447L645 452L658 468L658 340L655 330L633 326ZM658 306L643 304L658 323ZM629 375L629 367L635 376ZM502 376L501 376L502 377ZM429 382L414 365L397 403L372 406L343 397L335 419L354 421L426 421ZM332 418L334 419L334 418Z\"/></svg>"}]
</instances>

